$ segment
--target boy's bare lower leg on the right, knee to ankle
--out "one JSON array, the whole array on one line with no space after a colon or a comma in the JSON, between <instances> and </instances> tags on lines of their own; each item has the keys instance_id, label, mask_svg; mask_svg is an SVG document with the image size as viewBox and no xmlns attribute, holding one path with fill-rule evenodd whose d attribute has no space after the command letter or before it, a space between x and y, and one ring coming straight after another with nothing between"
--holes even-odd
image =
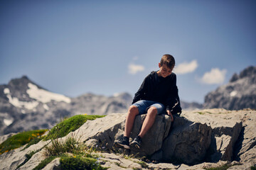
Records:
<instances>
[{"instance_id":1,"label":"boy's bare lower leg on the right, knee to ankle","mask_svg":"<svg viewBox=\"0 0 256 170\"><path fill-rule=\"evenodd\" d=\"M138 136L144 137L146 132L149 131L151 126L154 124L154 121L156 119L156 114L157 114L157 109L155 107L149 108L149 110L146 113L146 118L144 120L144 123L142 124L142 130Z\"/></svg>"}]
</instances>

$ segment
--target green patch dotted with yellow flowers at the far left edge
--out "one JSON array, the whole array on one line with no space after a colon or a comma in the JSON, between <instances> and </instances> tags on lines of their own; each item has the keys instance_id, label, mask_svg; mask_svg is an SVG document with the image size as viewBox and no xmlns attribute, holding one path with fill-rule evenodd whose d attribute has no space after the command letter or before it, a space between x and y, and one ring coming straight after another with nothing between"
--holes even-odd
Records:
<instances>
[{"instance_id":1,"label":"green patch dotted with yellow flowers at the far left edge","mask_svg":"<svg viewBox=\"0 0 256 170\"><path fill-rule=\"evenodd\" d=\"M0 154L9 152L12 149L16 149L27 143L31 142L38 137L41 137L47 130L31 130L27 132L20 132L12 137L9 137L6 141L0 145Z\"/></svg>"}]
</instances>

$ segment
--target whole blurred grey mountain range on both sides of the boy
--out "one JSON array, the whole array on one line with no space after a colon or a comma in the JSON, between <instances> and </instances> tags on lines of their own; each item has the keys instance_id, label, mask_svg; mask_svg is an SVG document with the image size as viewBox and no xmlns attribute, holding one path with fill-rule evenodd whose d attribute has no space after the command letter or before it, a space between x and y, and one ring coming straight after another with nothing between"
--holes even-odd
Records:
<instances>
[{"instance_id":1,"label":"whole blurred grey mountain range on both sides of the boy","mask_svg":"<svg viewBox=\"0 0 256 170\"><path fill-rule=\"evenodd\" d=\"M204 104L181 101L181 107L183 110L256 108L255 75L256 67L248 67L239 75L234 74L227 85L207 94ZM132 96L127 93L111 97L83 94L69 98L43 89L23 76L0 85L0 135L52 128L63 118L78 114L126 113L131 103Z\"/></svg>"}]
</instances>

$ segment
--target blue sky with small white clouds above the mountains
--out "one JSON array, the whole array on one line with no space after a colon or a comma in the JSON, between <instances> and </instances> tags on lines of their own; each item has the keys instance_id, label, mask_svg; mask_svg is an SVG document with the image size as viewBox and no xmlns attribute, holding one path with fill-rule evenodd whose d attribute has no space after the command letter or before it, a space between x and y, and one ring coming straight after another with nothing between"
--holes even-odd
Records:
<instances>
[{"instance_id":1,"label":"blue sky with small white clouds above the mountains","mask_svg":"<svg viewBox=\"0 0 256 170\"><path fill-rule=\"evenodd\" d=\"M256 1L0 1L0 84L27 75L75 97L134 95L176 59L183 101L256 65Z\"/></svg>"}]
</instances>

